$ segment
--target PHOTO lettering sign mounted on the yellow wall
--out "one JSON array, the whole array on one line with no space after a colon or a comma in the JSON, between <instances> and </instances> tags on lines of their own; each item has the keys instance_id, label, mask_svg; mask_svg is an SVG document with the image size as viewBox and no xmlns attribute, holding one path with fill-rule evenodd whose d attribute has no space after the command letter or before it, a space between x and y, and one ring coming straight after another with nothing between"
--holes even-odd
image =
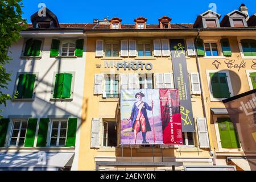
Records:
<instances>
[{"instance_id":1,"label":"PHOTO lettering sign mounted on the yellow wall","mask_svg":"<svg viewBox=\"0 0 256 182\"><path fill-rule=\"evenodd\" d=\"M143 63L141 61L105 61L104 62L104 67L105 68L117 68L117 71L119 71L119 69L123 69L123 70L133 70L133 71L137 71L138 69L140 70L151 70L153 68L152 63Z\"/></svg>"}]
</instances>

